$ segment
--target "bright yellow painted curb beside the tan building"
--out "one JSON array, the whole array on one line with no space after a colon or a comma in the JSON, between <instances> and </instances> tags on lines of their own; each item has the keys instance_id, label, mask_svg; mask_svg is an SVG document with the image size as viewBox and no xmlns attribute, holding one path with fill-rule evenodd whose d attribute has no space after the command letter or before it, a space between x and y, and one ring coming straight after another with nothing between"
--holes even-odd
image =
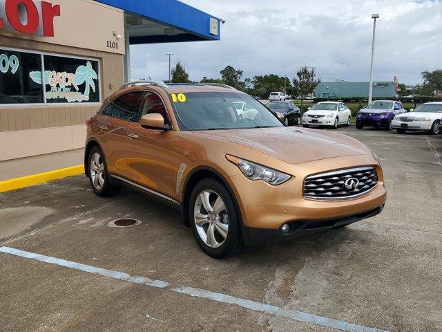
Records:
<instances>
[{"instance_id":1,"label":"bright yellow painted curb beside the tan building","mask_svg":"<svg viewBox=\"0 0 442 332\"><path fill-rule=\"evenodd\" d=\"M77 165L67 168L55 169L53 171L23 176L21 178L11 178L10 180L0 181L0 192L10 192L11 190L38 185L59 178L67 178L84 173L84 165Z\"/></svg>"}]
</instances>

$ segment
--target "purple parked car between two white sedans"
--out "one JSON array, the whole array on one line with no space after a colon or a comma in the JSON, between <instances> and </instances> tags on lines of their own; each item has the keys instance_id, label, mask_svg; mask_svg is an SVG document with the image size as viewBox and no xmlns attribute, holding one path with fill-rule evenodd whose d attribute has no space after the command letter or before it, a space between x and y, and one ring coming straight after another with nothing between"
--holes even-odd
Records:
<instances>
[{"instance_id":1,"label":"purple parked car between two white sedans","mask_svg":"<svg viewBox=\"0 0 442 332\"><path fill-rule=\"evenodd\" d=\"M398 114L407 113L401 102L392 100L376 100L365 109L358 111L356 116L356 128L363 129L365 126L375 128L384 127L392 129L392 120Z\"/></svg>"}]
</instances>

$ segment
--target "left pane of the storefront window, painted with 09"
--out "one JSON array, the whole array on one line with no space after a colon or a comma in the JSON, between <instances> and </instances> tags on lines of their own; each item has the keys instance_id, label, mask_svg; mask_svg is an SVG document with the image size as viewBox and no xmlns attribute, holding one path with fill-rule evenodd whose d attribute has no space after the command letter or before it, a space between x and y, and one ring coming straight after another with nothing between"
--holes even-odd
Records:
<instances>
[{"instance_id":1,"label":"left pane of the storefront window, painted with 09","mask_svg":"<svg viewBox=\"0 0 442 332\"><path fill-rule=\"evenodd\" d=\"M0 104L39 104L43 102L41 55L0 49Z\"/></svg>"}]
</instances>

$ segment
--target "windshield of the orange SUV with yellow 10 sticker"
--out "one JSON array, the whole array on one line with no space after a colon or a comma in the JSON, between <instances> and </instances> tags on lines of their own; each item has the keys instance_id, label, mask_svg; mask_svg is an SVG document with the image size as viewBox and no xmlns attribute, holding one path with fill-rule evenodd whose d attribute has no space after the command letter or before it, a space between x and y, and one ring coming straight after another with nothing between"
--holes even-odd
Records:
<instances>
[{"instance_id":1,"label":"windshield of the orange SUV with yellow 10 sticker","mask_svg":"<svg viewBox=\"0 0 442 332\"><path fill-rule=\"evenodd\" d=\"M269 109L245 93L192 92L180 95L180 99L169 98L181 130L284 127ZM236 104L242 102L247 112L240 113L236 108Z\"/></svg>"}]
</instances>

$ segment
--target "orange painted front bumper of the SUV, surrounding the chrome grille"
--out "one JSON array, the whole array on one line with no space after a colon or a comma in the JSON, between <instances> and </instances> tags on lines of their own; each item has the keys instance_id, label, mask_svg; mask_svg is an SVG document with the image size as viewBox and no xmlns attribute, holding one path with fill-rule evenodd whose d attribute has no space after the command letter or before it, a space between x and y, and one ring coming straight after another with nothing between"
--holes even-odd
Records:
<instances>
[{"instance_id":1,"label":"orange painted front bumper of the SUV, surrounding the chrome grille","mask_svg":"<svg viewBox=\"0 0 442 332\"><path fill-rule=\"evenodd\" d=\"M307 176L363 166L374 166L378 174L378 185L371 192L354 199L336 201L304 198L304 179ZM279 170L293 177L278 186L250 181L243 174L227 178L238 201L244 227L276 231L289 222L342 219L379 208L387 199L382 169L371 155L316 160Z\"/></svg>"}]
</instances>

